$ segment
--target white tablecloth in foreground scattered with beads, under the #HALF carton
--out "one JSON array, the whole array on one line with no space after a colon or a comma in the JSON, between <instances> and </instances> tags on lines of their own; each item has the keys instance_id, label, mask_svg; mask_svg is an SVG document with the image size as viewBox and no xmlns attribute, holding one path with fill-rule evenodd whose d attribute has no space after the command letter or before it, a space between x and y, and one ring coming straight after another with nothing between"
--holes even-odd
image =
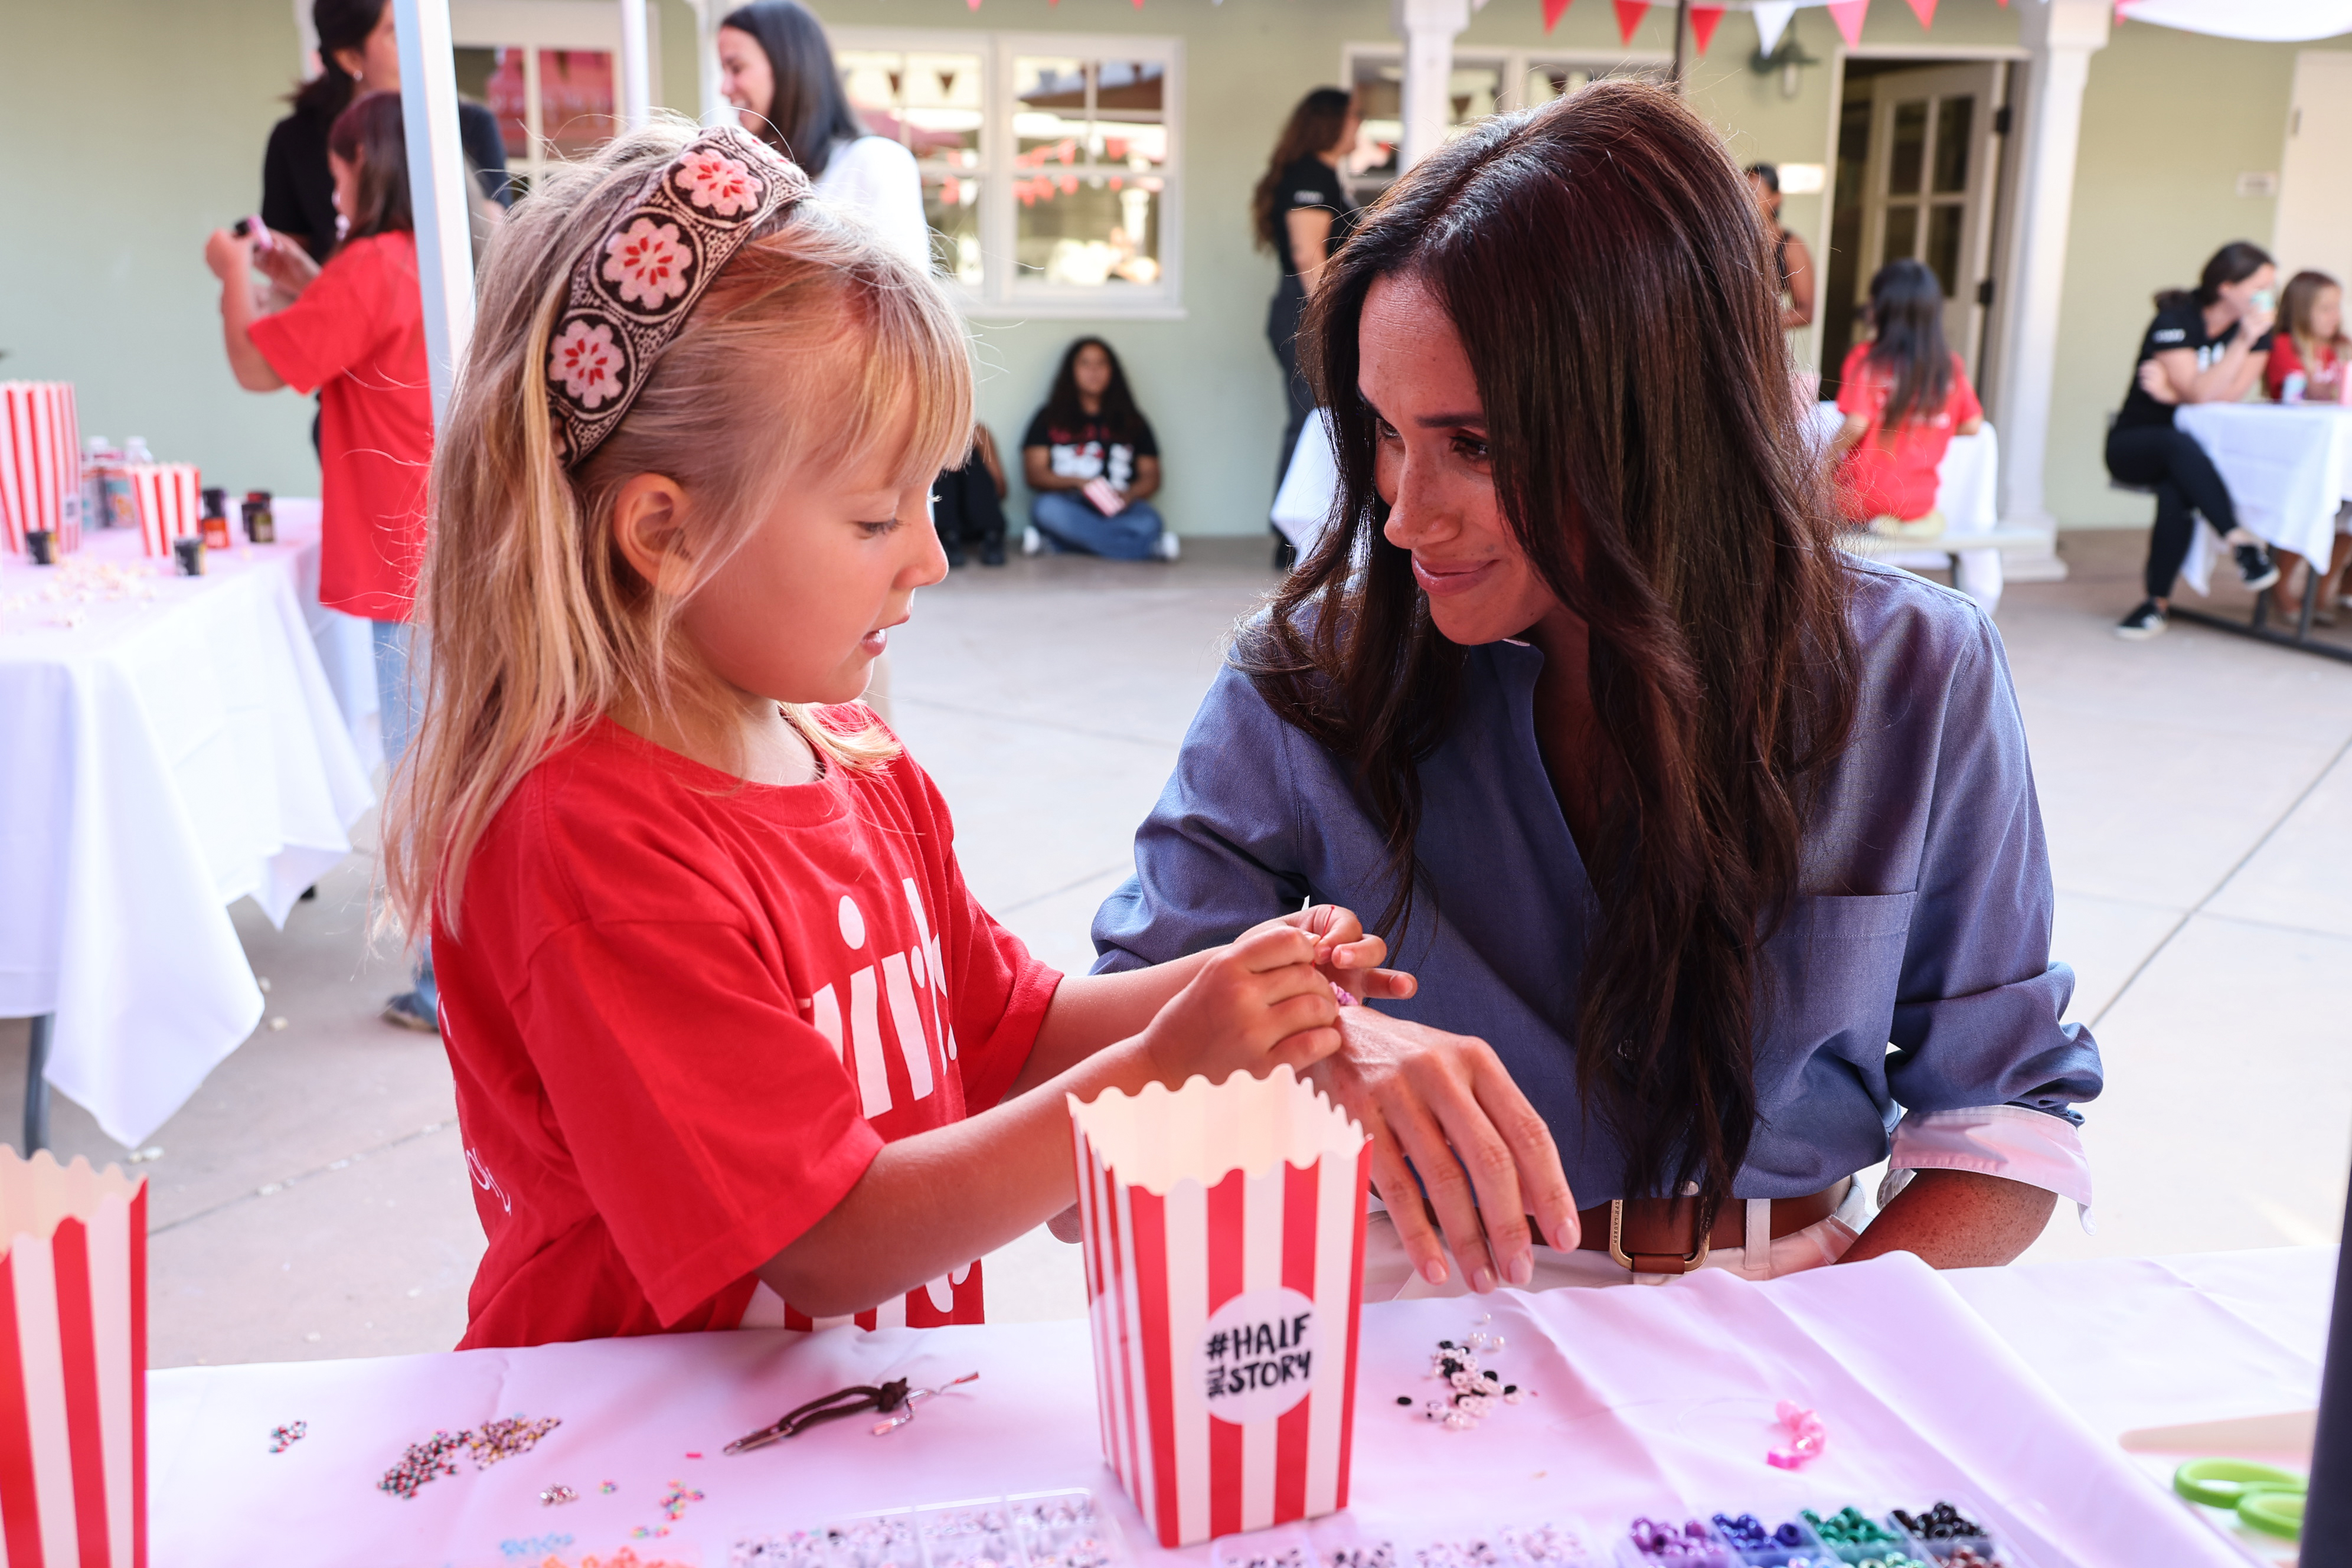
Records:
<instances>
[{"instance_id":1,"label":"white tablecloth in foreground scattered with beads, under the #HALF carton","mask_svg":"<svg viewBox=\"0 0 2352 1568\"><path fill-rule=\"evenodd\" d=\"M1663 1288L1369 1305L1352 1507L1315 1533L1411 1547L1541 1521L1613 1535L1637 1514L1947 1497L2011 1537L2016 1568L2241 1563L2112 1439L2143 1413L2307 1408L2331 1267L2333 1248L2310 1248L2218 1269L1938 1276L1898 1255L1762 1286L1705 1269ZM1435 1394L1430 1349L1482 1312L1508 1340L1486 1361L1538 1396L1472 1432L1399 1408L1397 1396ZM851 1420L720 1453L835 1387L969 1371L976 1385L884 1439ZM179 1368L148 1389L155 1561L186 1568L546 1556L574 1568L623 1544L715 1568L739 1540L866 1509L1063 1486L1096 1490L1138 1563L1211 1559L1209 1547L1152 1549L1117 1500L1082 1321ZM1804 1472L1764 1462L1778 1399L1828 1425L1828 1453ZM407 1443L494 1415L562 1427L494 1469L459 1460L461 1474L414 1500L376 1490ZM270 1429L296 1420L308 1436L270 1455ZM666 1519L673 1483L699 1500ZM579 1502L541 1505L550 1486Z\"/></svg>"}]
</instances>

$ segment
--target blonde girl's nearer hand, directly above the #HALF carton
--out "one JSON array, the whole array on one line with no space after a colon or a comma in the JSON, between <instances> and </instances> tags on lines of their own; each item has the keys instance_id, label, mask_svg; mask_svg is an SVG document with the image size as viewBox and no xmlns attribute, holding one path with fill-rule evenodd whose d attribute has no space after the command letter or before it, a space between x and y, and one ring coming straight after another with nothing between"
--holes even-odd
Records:
<instances>
[{"instance_id":1,"label":"blonde girl's nearer hand, directly above the #HALF carton","mask_svg":"<svg viewBox=\"0 0 2352 1568\"><path fill-rule=\"evenodd\" d=\"M1338 1051L1338 999L1315 969L1315 938L1270 922L1202 964L1141 1039L1171 1088L1195 1072L1211 1084L1279 1063L1305 1072Z\"/></svg>"}]
</instances>

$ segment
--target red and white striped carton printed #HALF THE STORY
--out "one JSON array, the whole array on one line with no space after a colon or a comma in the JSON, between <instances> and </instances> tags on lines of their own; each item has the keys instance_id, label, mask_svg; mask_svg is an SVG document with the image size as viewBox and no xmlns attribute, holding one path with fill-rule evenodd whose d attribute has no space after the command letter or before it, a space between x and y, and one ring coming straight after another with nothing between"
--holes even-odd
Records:
<instances>
[{"instance_id":1,"label":"red and white striped carton printed #HALF THE STORY","mask_svg":"<svg viewBox=\"0 0 2352 1568\"><path fill-rule=\"evenodd\" d=\"M1103 1460L1162 1547L1348 1507L1371 1145L1275 1067L1070 1095Z\"/></svg>"}]
</instances>

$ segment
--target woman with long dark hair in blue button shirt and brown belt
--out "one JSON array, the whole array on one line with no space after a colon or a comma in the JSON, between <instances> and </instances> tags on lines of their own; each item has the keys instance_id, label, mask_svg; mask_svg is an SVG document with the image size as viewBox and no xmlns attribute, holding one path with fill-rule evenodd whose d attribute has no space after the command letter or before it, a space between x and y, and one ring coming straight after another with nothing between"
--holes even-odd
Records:
<instances>
[{"instance_id":1,"label":"woman with long dark hair in blue button shirt and brown belt","mask_svg":"<svg viewBox=\"0 0 2352 1568\"><path fill-rule=\"evenodd\" d=\"M1317 292L1336 527L1094 936L1381 910L1418 994L1317 1067L1369 1291L2006 1262L2091 1197L1999 637L1832 545L1773 284L1717 134L1595 82L1416 165Z\"/></svg>"}]
</instances>

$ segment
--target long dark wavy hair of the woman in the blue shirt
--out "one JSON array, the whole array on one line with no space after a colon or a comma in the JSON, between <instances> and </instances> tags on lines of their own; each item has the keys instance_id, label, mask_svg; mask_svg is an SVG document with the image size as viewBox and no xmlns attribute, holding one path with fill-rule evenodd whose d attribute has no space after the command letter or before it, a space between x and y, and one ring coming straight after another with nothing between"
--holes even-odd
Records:
<instances>
[{"instance_id":1,"label":"long dark wavy hair of the woman in the blue shirt","mask_svg":"<svg viewBox=\"0 0 2352 1568\"><path fill-rule=\"evenodd\" d=\"M1797 421L1771 240L1679 99L1595 82L1496 115L1399 179L1331 261L1301 350L1331 411L1336 527L1244 632L1240 665L1352 764L1411 922L1418 764L1468 651L1383 538L1357 322L1383 277L1451 315L1496 501L1590 628L1602 917L1576 1072L1625 1192L1731 1197L1757 1121L1757 943L1797 893L1809 778L1846 741L1856 649L1828 496Z\"/></svg>"}]
</instances>

